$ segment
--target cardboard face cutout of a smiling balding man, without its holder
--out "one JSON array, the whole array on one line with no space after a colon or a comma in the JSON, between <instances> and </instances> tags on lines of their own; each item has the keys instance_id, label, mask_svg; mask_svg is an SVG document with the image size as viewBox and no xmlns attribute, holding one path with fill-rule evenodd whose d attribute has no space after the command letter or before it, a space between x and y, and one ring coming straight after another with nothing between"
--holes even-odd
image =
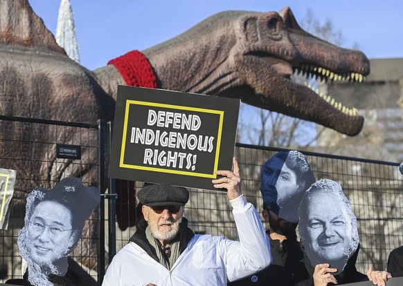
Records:
<instances>
[{"instance_id":1,"label":"cardboard face cutout of a smiling balding man, without its holder","mask_svg":"<svg viewBox=\"0 0 403 286\"><path fill-rule=\"evenodd\" d=\"M341 185L323 179L312 184L298 209L299 233L312 267L329 263L341 273L359 244L357 218Z\"/></svg>"}]
</instances>

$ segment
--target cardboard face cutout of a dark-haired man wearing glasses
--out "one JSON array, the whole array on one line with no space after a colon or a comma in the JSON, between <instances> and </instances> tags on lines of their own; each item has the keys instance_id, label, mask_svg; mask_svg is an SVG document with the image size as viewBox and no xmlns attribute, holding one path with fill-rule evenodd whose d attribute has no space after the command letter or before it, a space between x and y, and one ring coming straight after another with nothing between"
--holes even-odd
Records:
<instances>
[{"instance_id":1,"label":"cardboard face cutout of a dark-haired man wearing glasses","mask_svg":"<svg viewBox=\"0 0 403 286\"><path fill-rule=\"evenodd\" d=\"M25 225L18 246L28 262L28 280L33 285L53 285L48 274L64 276L67 256L81 238L84 220L100 201L96 187L84 187L79 178L64 178L51 190L29 193Z\"/></svg>"}]
</instances>

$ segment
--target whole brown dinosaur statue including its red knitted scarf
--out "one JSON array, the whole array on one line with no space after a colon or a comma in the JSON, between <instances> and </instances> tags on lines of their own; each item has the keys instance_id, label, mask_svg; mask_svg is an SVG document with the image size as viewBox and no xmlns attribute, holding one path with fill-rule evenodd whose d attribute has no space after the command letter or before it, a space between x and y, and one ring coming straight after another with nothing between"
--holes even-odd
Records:
<instances>
[{"instance_id":1,"label":"whole brown dinosaur statue including its red knitted scarf","mask_svg":"<svg viewBox=\"0 0 403 286\"><path fill-rule=\"evenodd\" d=\"M347 135L359 133L364 122L356 111L335 104L328 96L316 95L290 77L298 70L330 80L361 82L370 71L366 56L305 32L287 7L279 13L221 12L169 41L135 53L136 60L131 52L128 60L123 55L93 71L66 56L28 0L1 0L0 17L0 115L89 124L98 119L111 121L118 84L147 83L154 88L237 97ZM126 61L131 63L129 67L122 64ZM136 63L145 68L133 69ZM0 122L0 137L18 137L16 142L43 132L41 127L27 129L22 125L15 133L12 124ZM67 128L63 137L55 128L46 132L64 144L77 139L73 128ZM96 140L93 135L84 136L84 140ZM48 153L54 155L42 158ZM55 153L54 147L40 142L30 146L0 144L5 158L30 158L2 161L3 167L17 169L15 196L26 198L38 187L35 182L51 184L66 175L96 182L96 171L89 167L68 160L63 167L49 164L56 160ZM94 151L82 151L86 166L95 165L96 160ZM18 180L22 172L31 180ZM87 247L86 251L96 250Z\"/></svg>"}]
</instances>

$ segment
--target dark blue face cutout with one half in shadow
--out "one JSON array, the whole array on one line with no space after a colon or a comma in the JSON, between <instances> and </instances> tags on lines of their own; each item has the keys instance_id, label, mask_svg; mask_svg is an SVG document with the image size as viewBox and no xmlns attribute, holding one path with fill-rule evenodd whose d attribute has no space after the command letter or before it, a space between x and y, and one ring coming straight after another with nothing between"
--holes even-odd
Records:
<instances>
[{"instance_id":1,"label":"dark blue face cutout with one half in shadow","mask_svg":"<svg viewBox=\"0 0 403 286\"><path fill-rule=\"evenodd\" d=\"M278 152L262 166L263 203L279 218L298 222L298 207L305 190L315 182L305 156L298 151Z\"/></svg>"}]
</instances>

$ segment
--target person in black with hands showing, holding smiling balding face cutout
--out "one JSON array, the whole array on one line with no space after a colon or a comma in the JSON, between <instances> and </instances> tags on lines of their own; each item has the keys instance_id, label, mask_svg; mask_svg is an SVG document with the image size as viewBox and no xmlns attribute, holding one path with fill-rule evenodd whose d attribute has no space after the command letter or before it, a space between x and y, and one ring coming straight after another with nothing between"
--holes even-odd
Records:
<instances>
[{"instance_id":1,"label":"person in black with hands showing, holding smiling balding face cutout","mask_svg":"<svg viewBox=\"0 0 403 286\"><path fill-rule=\"evenodd\" d=\"M366 280L386 285L385 281L391 278L388 272L373 271L370 267L365 276L355 268L359 251L357 218L339 183L321 179L312 184L305 191L298 214L305 265L312 278L297 286L341 285Z\"/></svg>"}]
</instances>

